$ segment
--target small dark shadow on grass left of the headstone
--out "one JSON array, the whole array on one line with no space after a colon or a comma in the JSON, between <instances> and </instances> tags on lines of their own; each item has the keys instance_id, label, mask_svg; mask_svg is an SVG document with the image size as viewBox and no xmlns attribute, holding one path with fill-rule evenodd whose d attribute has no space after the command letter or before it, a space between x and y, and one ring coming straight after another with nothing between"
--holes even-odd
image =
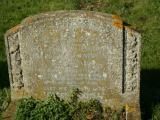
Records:
<instances>
[{"instance_id":1,"label":"small dark shadow on grass left of the headstone","mask_svg":"<svg viewBox=\"0 0 160 120\"><path fill-rule=\"evenodd\" d=\"M0 89L9 88L7 61L0 61Z\"/></svg>"}]
</instances>

